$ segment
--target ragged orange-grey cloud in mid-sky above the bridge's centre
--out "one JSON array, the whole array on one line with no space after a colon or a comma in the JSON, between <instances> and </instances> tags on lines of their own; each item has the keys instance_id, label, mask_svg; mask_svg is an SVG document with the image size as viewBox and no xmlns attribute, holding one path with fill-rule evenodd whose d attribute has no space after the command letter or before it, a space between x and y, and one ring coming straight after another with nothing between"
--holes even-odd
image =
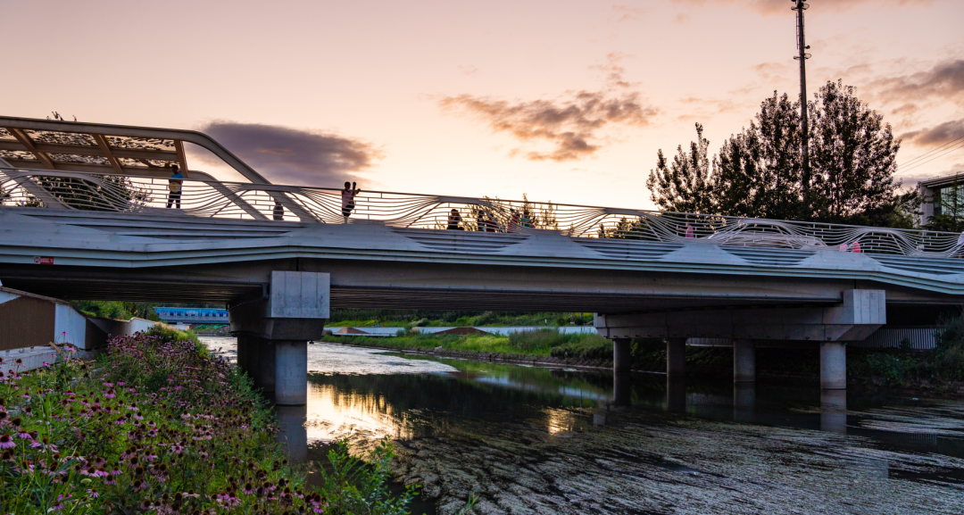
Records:
<instances>
[{"instance_id":1,"label":"ragged orange-grey cloud in mid-sky above the bridge's centre","mask_svg":"<svg viewBox=\"0 0 964 515\"><path fill-rule=\"evenodd\" d=\"M646 126L658 114L638 92L629 91L619 62L609 54L603 70L606 88L599 92L567 92L553 100L508 101L489 96L455 95L439 99L443 110L488 122L494 132L512 135L523 143L547 142L548 151L513 149L533 161L573 161L603 148L603 131L614 125Z\"/></svg>"}]
</instances>

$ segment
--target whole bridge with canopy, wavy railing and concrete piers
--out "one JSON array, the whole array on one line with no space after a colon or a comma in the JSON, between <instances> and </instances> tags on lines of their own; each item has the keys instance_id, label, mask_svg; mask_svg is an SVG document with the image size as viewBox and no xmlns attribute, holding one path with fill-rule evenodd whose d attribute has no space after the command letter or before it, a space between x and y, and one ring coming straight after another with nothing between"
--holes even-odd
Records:
<instances>
[{"instance_id":1,"label":"whole bridge with canopy, wavy railing and concrete piers","mask_svg":"<svg viewBox=\"0 0 964 515\"><path fill-rule=\"evenodd\" d=\"M185 146L248 182L189 168ZM185 171L176 192L169 165ZM174 195L176 193L176 195ZM338 308L596 312L615 342L845 343L964 303L958 234L271 184L194 131L0 117L0 283L68 299L225 303L239 364L304 403L307 341Z\"/></svg>"}]
</instances>

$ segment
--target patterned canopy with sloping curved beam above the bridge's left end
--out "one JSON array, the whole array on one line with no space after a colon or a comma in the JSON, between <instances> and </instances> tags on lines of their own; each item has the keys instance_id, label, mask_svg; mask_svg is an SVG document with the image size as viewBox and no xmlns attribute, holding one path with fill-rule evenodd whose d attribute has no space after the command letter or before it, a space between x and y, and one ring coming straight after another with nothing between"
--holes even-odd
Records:
<instances>
[{"instance_id":1,"label":"patterned canopy with sloping curved beam above the bridge's left end","mask_svg":"<svg viewBox=\"0 0 964 515\"><path fill-rule=\"evenodd\" d=\"M184 144L209 150L255 184L270 182L210 137L193 130L0 117L0 159L14 168L112 176L214 180L188 167Z\"/></svg>"}]
</instances>

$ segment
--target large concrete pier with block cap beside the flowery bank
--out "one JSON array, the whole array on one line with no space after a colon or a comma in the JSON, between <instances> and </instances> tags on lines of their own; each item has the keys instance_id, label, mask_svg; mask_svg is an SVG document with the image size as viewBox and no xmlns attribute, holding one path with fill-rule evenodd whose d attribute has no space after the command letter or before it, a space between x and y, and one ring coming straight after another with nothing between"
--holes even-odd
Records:
<instances>
[{"instance_id":1,"label":"large concrete pier with block cap beside the flowery bank","mask_svg":"<svg viewBox=\"0 0 964 515\"><path fill-rule=\"evenodd\" d=\"M278 405L308 402L308 340L325 329L330 281L329 274L275 271L267 298L228 309L238 366Z\"/></svg>"}]
</instances>

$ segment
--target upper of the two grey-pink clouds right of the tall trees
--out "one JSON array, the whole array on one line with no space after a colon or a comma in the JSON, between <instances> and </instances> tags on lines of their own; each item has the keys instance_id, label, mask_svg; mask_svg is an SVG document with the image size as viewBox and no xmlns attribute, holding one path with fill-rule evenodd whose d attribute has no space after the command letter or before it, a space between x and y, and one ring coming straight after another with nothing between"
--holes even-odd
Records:
<instances>
[{"instance_id":1,"label":"upper of the two grey-pink clouds right of the tall trees","mask_svg":"<svg viewBox=\"0 0 964 515\"><path fill-rule=\"evenodd\" d=\"M885 101L937 98L964 102L964 59L951 59L907 75L878 77L868 84Z\"/></svg>"}]
</instances>

